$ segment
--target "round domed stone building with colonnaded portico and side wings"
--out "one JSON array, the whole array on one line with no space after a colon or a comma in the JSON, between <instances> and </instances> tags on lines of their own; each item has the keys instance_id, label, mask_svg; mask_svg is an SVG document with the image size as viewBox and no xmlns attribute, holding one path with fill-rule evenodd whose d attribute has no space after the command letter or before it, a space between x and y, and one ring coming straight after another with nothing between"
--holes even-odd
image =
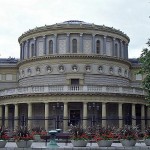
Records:
<instances>
[{"instance_id":1,"label":"round domed stone building with colonnaded portico and side wings","mask_svg":"<svg viewBox=\"0 0 150 150\"><path fill-rule=\"evenodd\" d=\"M19 37L20 59L0 59L1 124L46 130L70 124L148 124L140 63L113 27L66 21ZM23 118L23 119L22 119Z\"/></svg>"}]
</instances>

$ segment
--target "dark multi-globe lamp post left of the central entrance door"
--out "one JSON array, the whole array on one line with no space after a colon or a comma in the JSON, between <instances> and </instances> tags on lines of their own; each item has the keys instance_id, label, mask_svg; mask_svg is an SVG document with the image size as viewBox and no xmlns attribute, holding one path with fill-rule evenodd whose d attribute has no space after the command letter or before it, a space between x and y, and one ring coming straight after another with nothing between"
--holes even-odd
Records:
<instances>
[{"instance_id":1,"label":"dark multi-globe lamp post left of the central entrance door","mask_svg":"<svg viewBox=\"0 0 150 150\"><path fill-rule=\"evenodd\" d=\"M64 106L57 102L55 105L53 105L53 111L55 111L56 114L56 129L59 129L59 122L60 122L60 112L63 111Z\"/></svg>"}]
</instances>

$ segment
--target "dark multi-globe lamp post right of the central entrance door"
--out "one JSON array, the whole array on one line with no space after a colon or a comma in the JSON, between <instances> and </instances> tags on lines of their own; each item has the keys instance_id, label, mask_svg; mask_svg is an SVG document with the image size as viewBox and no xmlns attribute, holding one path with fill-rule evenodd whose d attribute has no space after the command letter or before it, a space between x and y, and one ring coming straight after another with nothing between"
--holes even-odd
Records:
<instances>
[{"instance_id":1,"label":"dark multi-globe lamp post right of the central entrance door","mask_svg":"<svg viewBox=\"0 0 150 150\"><path fill-rule=\"evenodd\" d=\"M99 110L99 104L98 103L89 103L89 105L88 105L88 109L90 110L90 111L92 111L92 126L94 126L95 125L95 112L96 111L98 111Z\"/></svg>"}]
</instances>

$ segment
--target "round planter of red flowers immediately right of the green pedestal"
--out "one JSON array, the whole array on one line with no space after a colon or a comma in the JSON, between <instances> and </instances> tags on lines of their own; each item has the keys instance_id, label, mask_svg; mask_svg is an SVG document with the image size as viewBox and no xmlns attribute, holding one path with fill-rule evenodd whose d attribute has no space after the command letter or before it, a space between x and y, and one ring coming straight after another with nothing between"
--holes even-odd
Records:
<instances>
[{"instance_id":1,"label":"round planter of red flowers immediately right of the green pedestal","mask_svg":"<svg viewBox=\"0 0 150 150\"><path fill-rule=\"evenodd\" d=\"M86 147L89 139L86 129L78 126L71 126L69 132L71 134L71 143L74 147Z\"/></svg>"}]
</instances>

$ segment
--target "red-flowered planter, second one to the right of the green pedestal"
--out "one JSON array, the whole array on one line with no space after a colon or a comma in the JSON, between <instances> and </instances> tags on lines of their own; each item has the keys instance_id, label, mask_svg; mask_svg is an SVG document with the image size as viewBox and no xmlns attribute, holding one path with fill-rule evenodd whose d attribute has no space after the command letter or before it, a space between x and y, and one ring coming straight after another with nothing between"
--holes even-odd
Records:
<instances>
[{"instance_id":1,"label":"red-flowered planter, second one to the right of the green pedestal","mask_svg":"<svg viewBox=\"0 0 150 150\"><path fill-rule=\"evenodd\" d=\"M113 143L113 128L98 127L95 132L94 140L99 147L110 147Z\"/></svg>"}]
</instances>

